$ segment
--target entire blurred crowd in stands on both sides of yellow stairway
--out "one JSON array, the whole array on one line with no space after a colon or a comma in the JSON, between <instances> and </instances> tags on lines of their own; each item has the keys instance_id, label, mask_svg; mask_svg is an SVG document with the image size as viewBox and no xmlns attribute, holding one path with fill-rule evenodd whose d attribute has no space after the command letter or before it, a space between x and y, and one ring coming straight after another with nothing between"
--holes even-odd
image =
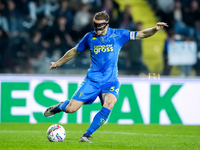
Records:
<instances>
[{"instance_id":1,"label":"entire blurred crowd in stands on both sides of yellow stairway","mask_svg":"<svg viewBox=\"0 0 200 150\"><path fill-rule=\"evenodd\" d=\"M169 24L165 64L167 41L176 35L196 41L200 49L200 0L148 1L160 21ZM127 5L120 12L114 0L1 0L0 73L51 74L50 62L57 61L93 30L93 16L98 11L105 10L109 14L112 28L141 30L142 22L134 22L131 9ZM119 74L148 74L142 62L141 42L131 41L123 47ZM85 51L61 66L57 73L87 71L89 66L90 52ZM169 75L169 69L170 66L165 65L163 75ZM200 59L195 69L200 75Z\"/></svg>"}]
</instances>

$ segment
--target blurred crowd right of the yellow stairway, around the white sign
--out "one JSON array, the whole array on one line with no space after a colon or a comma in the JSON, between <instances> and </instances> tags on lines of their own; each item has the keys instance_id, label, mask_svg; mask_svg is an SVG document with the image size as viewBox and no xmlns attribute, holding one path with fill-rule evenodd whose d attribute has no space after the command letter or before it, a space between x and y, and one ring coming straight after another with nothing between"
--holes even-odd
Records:
<instances>
[{"instance_id":1,"label":"blurred crowd right of the yellow stairway, around the white sign","mask_svg":"<svg viewBox=\"0 0 200 150\"><path fill-rule=\"evenodd\" d=\"M196 75L200 75L200 0L149 0L152 10L160 18L167 22L168 37L165 41L164 75L169 75L167 65L167 53L169 41L194 41L197 43L197 63L193 66L179 66L182 75L189 76L193 68Z\"/></svg>"}]
</instances>

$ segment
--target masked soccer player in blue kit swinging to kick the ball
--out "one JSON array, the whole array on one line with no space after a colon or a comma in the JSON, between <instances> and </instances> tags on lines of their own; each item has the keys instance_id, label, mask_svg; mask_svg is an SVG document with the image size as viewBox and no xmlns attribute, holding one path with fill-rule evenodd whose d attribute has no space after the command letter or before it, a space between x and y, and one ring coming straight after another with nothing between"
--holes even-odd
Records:
<instances>
[{"instance_id":1,"label":"masked soccer player in blue kit swinging to kick the ball","mask_svg":"<svg viewBox=\"0 0 200 150\"><path fill-rule=\"evenodd\" d=\"M70 61L80 52L90 49L92 63L87 76L75 92L71 100L50 106L44 112L48 117L64 111L73 113L83 104L92 104L99 96L102 109L95 115L93 122L80 138L79 142L92 142L89 138L108 118L119 94L119 81L117 61L121 47L129 40L142 39L154 35L164 26L159 22L155 27L143 31L128 31L124 29L109 28L109 15L104 12L95 14L94 31L87 33L79 44L70 49L57 62L51 62L50 70L60 67Z\"/></svg>"}]
</instances>

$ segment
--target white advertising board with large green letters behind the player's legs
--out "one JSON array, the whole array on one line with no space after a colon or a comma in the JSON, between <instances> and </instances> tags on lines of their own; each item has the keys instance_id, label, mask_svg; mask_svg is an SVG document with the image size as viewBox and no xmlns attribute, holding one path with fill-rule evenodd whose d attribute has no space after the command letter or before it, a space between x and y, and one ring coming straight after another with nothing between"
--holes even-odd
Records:
<instances>
[{"instance_id":1,"label":"white advertising board with large green letters behind the player's legs","mask_svg":"<svg viewBox=\"0 0 200 150\"><path fill-rule=\"evenodd\" d=\"M46 118L45 109L71 99L84 77L0 76L0 122L89 123L99 98L73 114ZM121 77L119 98L106 123L200 125L200 79Z\"/></svg>"}]
</instances>

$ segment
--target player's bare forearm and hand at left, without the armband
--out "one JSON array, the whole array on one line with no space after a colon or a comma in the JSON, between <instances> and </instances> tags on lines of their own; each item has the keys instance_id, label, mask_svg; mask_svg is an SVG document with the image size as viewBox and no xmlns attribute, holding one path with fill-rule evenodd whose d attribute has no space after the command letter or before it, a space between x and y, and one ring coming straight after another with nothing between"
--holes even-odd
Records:
<instances>
[{"instance_id":1,"label":"player's bare forearm and hand at left, without the armband","mask_svg":"<svg viewBox=\"0 0 200 150\"><path fill-rule=\"evenodd\" d=\"M79 54L79 52L77 51L76 47L70 49L57 62L51 62L49 69L51 70L51 69L60 67L61 65L70 61L72 58L74 58L78 54Z\"/></svg>"}]
</instances>

